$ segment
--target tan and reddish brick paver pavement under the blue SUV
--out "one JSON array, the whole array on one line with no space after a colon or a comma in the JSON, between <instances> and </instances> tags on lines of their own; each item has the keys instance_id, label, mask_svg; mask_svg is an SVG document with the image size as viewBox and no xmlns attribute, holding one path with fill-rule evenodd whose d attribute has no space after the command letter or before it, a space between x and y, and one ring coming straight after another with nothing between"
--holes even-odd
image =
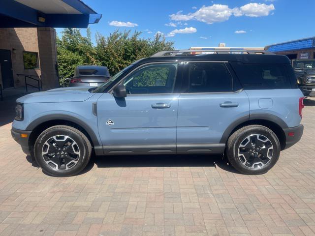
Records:
<instances>
[{"instance_id":1,"label":"tan and reddish brick paver pavement under the blue SUV","mask_svg":"<svg viewBox=\"0 0 315 236\"><path fill-rule=\"evenodd\" d=\"M302 140L267 174L238 174L220 156L93 159L49 177L0 126L1 236L315 235L315 99Z\"/></svg>"}]
</instances>

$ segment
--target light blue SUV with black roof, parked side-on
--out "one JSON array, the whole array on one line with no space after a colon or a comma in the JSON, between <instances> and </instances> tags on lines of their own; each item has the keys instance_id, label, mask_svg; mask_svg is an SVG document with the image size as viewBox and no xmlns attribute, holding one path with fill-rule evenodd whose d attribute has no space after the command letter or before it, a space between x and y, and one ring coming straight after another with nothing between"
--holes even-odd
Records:
<instances>
[{"instance_id":1,"label":"light blue SUV with black roof, parked side-on","mask_svg":"<svg viewBox=\"0 0 315 236\"><path fill-rule=\"evenodd\" d=\"M23 96L12 136L53 176L79 173L92 152L225 152L241 173L267 172L303 133L304 96L289 59L254 51L190 53L138 60L96 89Z\"/></svg>"}]
</instances>

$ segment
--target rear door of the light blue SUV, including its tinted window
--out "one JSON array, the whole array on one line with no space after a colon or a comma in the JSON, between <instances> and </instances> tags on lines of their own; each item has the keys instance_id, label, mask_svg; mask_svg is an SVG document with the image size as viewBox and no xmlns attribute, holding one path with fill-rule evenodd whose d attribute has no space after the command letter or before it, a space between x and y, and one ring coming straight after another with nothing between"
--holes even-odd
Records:
<instances>
[{"instance_id":1,"label":"rear door of the light blue SUV, including its tinted window","mask_svg":"<svg viewBox=\"0 0 315 236\"><path fill-rule=\"evenodd\" d=\"M249 118L249 98L227 62L186 64L177 119L177 152L221 152L227 127Z\"/></svg>"}]
</instances>

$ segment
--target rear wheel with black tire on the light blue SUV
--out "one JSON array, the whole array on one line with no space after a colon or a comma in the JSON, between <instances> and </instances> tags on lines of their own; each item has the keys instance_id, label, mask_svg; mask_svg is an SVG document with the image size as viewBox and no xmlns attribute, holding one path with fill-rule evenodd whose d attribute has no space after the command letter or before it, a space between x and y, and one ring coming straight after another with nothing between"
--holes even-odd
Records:
<instances>
[{"instance_id":1,"label":"rear wheel with black tire on the light blue SUV","mask_svg":"<svg viewBox=\"0 0 315 236\"><path fill-rule=\"evenodd\" d=\"M264 158L264 155L262 155L259 152L262 149L257 150L256 153L259 152L259 154L254 154L255 158L258 158L258 156L261 156L263 159L263 162L266 162L266 161L267 162L265 164L264 163L256 164L256 167L255 167L255 165L252 165L252 167L249 167L254 162L254 160L251 159L253 157L251 157L250 155L253 155L253 152L255 152L255 148L249 149L249 148L244 147L244 149L242 149L242 151L244 150L244 153L246 152L246 155L250 156L250 158L248 158L248 159L252 160L252 162L247 161L247 159L245 158L245 155L244 156L241 155L242 153L239 155L239 150L240 150L239 148L242 148L242 145L244 145L246 143L251 147L255 147L255 146L252 146L252 142L249 142L251 138L247 139L249 136L250 137L255 136L255 134L261 135L261 136L256 136L256 137L263 138L263 136L264 136L265 138L268 138L273 147L272 147L272 151L270 150L270 152L269 152L269 149L263 150L263 151L267 151L267 156L268 155L271 156L270 159L269 159L269 157ZM265 140L265 142L268 142L268 145L270 145L269 141ZM259 139L258 139L258 142L259 142ZM251 144L249 144L249 143L251 143ZM240 145L241 145L241 147L240 147ZM256 147L258 147L258 145ZM265 146L263 146L263 147L265 147ZM277 135L272 130L270 130L269 128L262 126L262 125L249 125L249 126L242 127L239 130L235 131L228 138L226 153L227 153L228 160L232 164L232 166L236 170L241 172L242 174L260 175L260 174L264 174L267 171L269 171L277 163L279 156L280 156L280 150L281 150L281 146L280 146L279 139L278 139ZM272 153L272 155L271 155L271 153ZM241 160L243 160L243 162ZM258 159L255 159L255 160L258 160ZM261 165L261 167L260 167L260 165Z\"/></svg>"}]
</instances>

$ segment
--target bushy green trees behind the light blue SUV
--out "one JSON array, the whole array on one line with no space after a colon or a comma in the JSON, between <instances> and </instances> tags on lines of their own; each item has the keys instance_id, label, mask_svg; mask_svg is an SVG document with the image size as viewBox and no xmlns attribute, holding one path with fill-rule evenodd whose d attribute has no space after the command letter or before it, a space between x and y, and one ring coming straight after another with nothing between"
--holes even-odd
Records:
<instances>
[{"instance_id":1,"label":"bushy green trees behind the light blue SUV","mask_svg":"<svg viewBox=\"0 0 315 236\"><path fill-rule=\"evenodd\" d=\"M120 31L116 29L109 36L96 33L96 44L87 29L82 36L79 29L64 29L61 38L57 37L59 76L69 78L78 65L107 66L112 75L135 60L153 54L172 50L174 42L166 42L165 37L156 34L153 39L140 38L141 32ZM61 82L62 83L62 82Z\"/></svg>"}]
</instances>

